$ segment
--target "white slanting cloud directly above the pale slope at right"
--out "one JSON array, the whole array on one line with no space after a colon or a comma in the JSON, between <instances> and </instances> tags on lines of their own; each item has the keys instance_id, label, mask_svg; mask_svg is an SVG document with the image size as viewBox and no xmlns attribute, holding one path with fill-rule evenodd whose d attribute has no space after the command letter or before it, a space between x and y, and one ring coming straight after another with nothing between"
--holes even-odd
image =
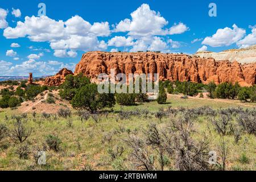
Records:
<instances>
[{"instance_id":1,"label":"white slanting cloud directly above the pale slope at right","mask_svg":"<svg viewBox=\"0 0 256 182\"><path fill-rule=\"evenodd\" d=\"M216 34L205 38L202 44L212 47L221 47L230 46L233 43L238 42L238 40L241 40L245 36L246 31L242 28L238 28L236 24L233 24L232 27L233 29L229 27L218 29Z\"/></svg>"}]
</instances>

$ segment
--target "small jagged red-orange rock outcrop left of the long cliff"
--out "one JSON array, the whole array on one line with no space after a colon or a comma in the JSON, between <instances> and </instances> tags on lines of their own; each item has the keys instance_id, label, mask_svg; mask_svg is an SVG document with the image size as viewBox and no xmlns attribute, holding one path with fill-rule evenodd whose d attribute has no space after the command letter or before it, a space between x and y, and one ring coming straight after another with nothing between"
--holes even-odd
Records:
<instances>
[{"instance_id":1,"label":"small jagged red-orange rock outcrop left of the long cliff","mask_svg":"<svg viewBox=\"0 0 256 182\"><path fill-rule=\"evenodd\" d=\"M65 81L67 75L73 75L73 72L67 68L61 69L55 76L47 77L43 85L46 86L59 86Z\"/></svg>"}]
</instances>

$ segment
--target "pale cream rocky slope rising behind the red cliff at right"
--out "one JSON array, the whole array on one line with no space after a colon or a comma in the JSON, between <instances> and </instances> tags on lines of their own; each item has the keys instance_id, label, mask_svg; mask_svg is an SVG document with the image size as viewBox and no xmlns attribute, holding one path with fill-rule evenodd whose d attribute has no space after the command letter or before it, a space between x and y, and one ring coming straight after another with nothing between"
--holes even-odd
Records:
<instances>
[{"instance_id":1,"label":"pale cream rocky slope rising behind the red cliff at right","mask_svg":"<svg viewBox=\"0 0 256 182\"><path fill-rule=\"evenodd\" d=\"M238 61L238 63L255 63L256 62L256 45L242 49L229 49L222 52L197 52L200 57L212 57L216 60Z\"/></svg>"}]
</instances>

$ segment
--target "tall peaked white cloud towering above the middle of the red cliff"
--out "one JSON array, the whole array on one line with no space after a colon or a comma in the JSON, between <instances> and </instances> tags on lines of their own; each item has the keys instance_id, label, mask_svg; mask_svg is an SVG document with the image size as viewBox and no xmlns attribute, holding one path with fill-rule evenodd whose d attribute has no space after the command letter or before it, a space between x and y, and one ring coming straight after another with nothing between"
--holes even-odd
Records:
<instances>
[{"instance_id":1,"label":"tall peaked white cloud towering above the middle of the red cliff","mask_svg":"<svg viewBox=\"0 0 256 182\"><path fill-rule=\"evenodd\" d=\"M181 34L188 28L183 23L175 24L169 30L164 29L168 21L160 13L151 10L147 4L141 5L131 13L131 19L122 20L115 27L115 32L129 32L132 36L154 36Z\"/></svg>"}]
</instances>

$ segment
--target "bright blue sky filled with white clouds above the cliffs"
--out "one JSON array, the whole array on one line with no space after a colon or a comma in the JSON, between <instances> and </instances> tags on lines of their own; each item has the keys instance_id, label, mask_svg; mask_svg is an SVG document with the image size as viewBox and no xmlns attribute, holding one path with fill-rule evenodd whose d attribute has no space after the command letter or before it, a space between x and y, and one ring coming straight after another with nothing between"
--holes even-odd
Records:
<instances>
[{"instance_id":1,"label":"bright blue sky filled with white clouds above the cliffs","mask_svg":"<svg viewBox=\"0 0 256 182\"><path fill-rule=\"evenodd\" d=\"M217 16L208 7L216 3ZM45 3L46 16L38 16ZM0 75L53 75L86 51L219 52L256 44L256 2L1 1Z\"/></svg>"}]
</instances>

